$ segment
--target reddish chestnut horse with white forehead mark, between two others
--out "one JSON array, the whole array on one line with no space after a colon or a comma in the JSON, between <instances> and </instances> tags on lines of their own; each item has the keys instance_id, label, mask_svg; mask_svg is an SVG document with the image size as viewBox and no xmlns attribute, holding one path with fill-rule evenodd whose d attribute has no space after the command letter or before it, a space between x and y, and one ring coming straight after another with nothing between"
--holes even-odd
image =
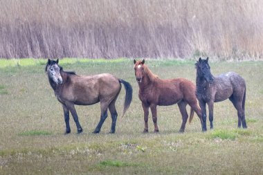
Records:
<instances>
[{"instance_id":1,"label":"reddish chestnut horse with white forehead mark, between two others","mask_svg":"<svg viewBox=\"0 0 263 175\"><path fill-rule=\"evenodd\" d=\"M195 95L195 86L190 80L185 78L176 78L172 80L162 80L154 75L152 71L145 65L145 60L138 61L134 59L134 71L138 86L140 88L139 98L143 105L145 129L143 132L148 132L148 116L149 108L152 111L152 120L154 122L154 132L158 132L157 111L156 106L168 106L178 104L178 107L183 118L180 132L185 130L185 123L188 119L186 105L189 104L190 119L194 116L194 111L201 121L201 110L197 103ZM201 121L202 123L202 121Z\"/></svg>"}]
</instances>

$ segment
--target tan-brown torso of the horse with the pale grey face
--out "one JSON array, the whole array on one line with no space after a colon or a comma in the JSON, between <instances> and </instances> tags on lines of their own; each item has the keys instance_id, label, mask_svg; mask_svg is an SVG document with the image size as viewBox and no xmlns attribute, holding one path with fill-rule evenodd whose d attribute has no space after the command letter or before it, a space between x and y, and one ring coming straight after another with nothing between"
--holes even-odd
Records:
<instances>
[{"instance_id":1,"label":"tan-brown torso of the horse with the pale grey face","mask_svg":"<svg viewBox=\"0 0 263 175\"><path fill-rule=\"evenodd\" d=\"M120 83L108 73L71 76L63 91L64 99L74 104L90 105L115 97L120 92Z\"/></svg>"}]
</instances>

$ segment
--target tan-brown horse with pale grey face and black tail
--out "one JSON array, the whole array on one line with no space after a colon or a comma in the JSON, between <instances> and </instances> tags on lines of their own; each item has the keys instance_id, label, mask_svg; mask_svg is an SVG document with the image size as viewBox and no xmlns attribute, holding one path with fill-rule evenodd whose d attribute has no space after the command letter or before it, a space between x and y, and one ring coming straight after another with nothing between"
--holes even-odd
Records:
<instances>
[{"instance_id":1,"label":"tan-brown horse with pale grey face and black tail","mask_svg":"<svg viewBox=\"0 0 263 175\"><path fill-rule=\"evenodd\" d=\"M69 126L69 111L71 111L78 133L82 132L82 127L78 121L78 115L74 104L91 105L98 102L100 102L101 110L100 122L93 133L100 132L100 128L108 116L108 109L111 113L112 119L110 133L115 132L116 120L118 116L115 108L115 102L118 98L118 94L120 93L120 83L124 84L126 90L123 115L131 104L132 88L128 82L125 82L125 80L121 80L108 73L91 76L79 76L74 72L66 72L63 71L63 68L58 65L58 59L57 61L48 59L46 64L46 73L48 74L49 83L55 92L57 100L62 103L66 122L65 133L71 132L71 128Z\"/></svg>"}]
</instances>

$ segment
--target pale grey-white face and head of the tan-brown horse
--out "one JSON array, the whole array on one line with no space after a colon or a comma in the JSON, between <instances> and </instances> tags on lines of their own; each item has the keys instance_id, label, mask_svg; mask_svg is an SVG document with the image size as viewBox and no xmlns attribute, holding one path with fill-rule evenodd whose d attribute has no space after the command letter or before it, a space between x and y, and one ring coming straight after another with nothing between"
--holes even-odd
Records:
<instances>
[{"instance_id":1,"label":"pale grey-white face and head of the tan-brown horse","mask_svg":"<svg viewBox=\"0 0 263 175\"><path fill-rule=\"evenodd\" d=\"M48 59L48 62L46 64L46 73L48 74L49 80L52 80L56 84L62 84L63 80L60 75L60 66L58 65L58 59L57 61Z\"/></svg>"}]
</instances>

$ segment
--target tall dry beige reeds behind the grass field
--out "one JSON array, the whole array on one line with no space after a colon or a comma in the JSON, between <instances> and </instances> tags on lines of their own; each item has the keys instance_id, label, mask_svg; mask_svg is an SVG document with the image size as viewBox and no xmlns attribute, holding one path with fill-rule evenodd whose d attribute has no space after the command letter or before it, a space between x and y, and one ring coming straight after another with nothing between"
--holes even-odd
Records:
<instances>
[{"instance_id":1,"label":"tall dry beige reeds behind the grass field","mask_svg":"<svg viewBox=\"0 0 263 175\"><path fill-rule=\"evenodd\" d=\"M0 0L0 57L262 59L261 0Z\"/></svg>"}]
</instances>

